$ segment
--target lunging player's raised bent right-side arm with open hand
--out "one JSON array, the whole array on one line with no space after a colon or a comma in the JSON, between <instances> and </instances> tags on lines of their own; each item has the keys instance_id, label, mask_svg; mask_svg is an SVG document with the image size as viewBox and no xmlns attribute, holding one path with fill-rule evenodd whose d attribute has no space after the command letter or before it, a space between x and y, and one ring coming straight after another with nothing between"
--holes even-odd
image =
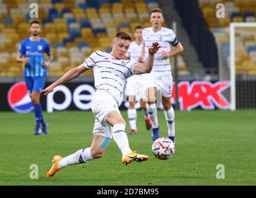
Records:
<instances>
[{"instance_id":1,"label":"lunging player's raised bent right-side arm with open hand","mask_svg":"<svg viewBox=\"0 0 256 198\"><path fill-rule=\"evenodd\" d=\"M149 47L149 56L147 57L147 61L139 62L134 65L134 74L145 74L150 73L153 67L153 59L155 53L157 53L160 48L158 42L153 42L152 46Z\"/></svg>"}]
</instances>

